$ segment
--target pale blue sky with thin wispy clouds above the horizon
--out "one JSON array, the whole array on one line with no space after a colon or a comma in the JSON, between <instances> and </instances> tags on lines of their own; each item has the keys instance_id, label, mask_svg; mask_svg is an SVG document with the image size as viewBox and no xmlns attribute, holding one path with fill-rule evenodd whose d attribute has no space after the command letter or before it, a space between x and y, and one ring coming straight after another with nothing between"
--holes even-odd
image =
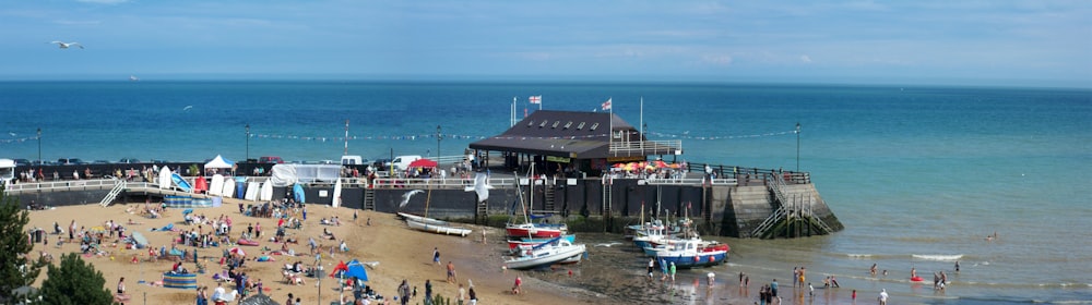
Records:
<instances>
[{"instance_id":1,"label":"pale blue sky with thin wispy clouds above the horizon","mask_svg":"<svg viewBox=\"0 0 1092 305\"><path fill-rule=\"evenodd\" d=\"M1092 87L1092 1L0 0L0 80ZM59 49L52 40L85 49Z\"/></svg>"}]
</instances>

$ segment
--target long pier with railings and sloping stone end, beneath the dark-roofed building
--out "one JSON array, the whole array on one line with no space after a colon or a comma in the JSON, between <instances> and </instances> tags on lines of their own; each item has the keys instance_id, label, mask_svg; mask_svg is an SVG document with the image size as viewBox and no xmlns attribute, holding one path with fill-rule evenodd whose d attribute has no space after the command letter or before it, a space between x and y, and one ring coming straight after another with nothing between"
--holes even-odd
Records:
<instances>
[{"instance_id":1,"label":"long pier with railings and sloping stone end, beneath the dark-roofed building","mask_svg":"<svg viewBox=\"0 0 1092 305\"><path fill-rule=\"evenodd\" d=\"M695 168L707 164L692 163ZM709 235L778 239L830 234L843 229L830 207L819 196L807 172L782 172L709 164L715 179L704 173L687 172L677 179L640 178L554 178L529 179L515 172L505 173L496 167L489 170L487 183L492 186L489 199L479 203L474 192L473 175L448 179L342 178L342 207L394 213L423 212L428 200L430 217L503 225L513 212L520 212L518 192L531 203L535 215L551 215L551 221L572 222L571 228L585 231L621 232L621 228L639 221L642 208L645 217L678 218L689 216L700 231ZM484 171L482 172L484 173ZM198 176L186 176L192 182ZM247 182L265 183L266 176L247 176ZM531 183L535 184L530 193ZM308 204L331 205L336 181L304 185ZM284 199L290 187L274 187L272 200ZM427 192L401 206L407 192ZM8 185L8 195L32 204L100 205L159 203L165 196L191 196L211 199L158 184L127 179L87 179L16 183ZM427 198L426 198L427 197ZM221 197L223 204L250 205L259 200ZM590 224L594 223L594 224Z\"/></svg>"}]
</instances>

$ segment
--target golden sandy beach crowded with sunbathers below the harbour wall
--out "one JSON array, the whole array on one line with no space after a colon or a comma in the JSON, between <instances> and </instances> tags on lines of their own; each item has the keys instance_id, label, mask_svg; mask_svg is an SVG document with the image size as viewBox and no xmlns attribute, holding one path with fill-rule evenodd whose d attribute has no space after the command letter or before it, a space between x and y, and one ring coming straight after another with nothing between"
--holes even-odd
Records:
<instances>
[{"instance_id":1,"label":"golden sandy beach crowded with sunbathers below the harbour wall","mask_svg":"<svg viewBox=\"0 0 1092 305\"><path fill-rule=\"evenodd\" d=\"M97 205L86 205L35 210L31 211L31 221L27 224L27 229L41 228L47 232L52 232L54 222L57 222L64 230L68 230L68 225L72 220L75 220L78 225L91 229L105 225L106 221L109 220L123 224L131 219L134 222L140 222L140 224L126 225L128 232L141 232L147 237L152 246L159 247L166 245L169 248L171 240L178 236L178 233L153 232L150 229L162 228L168 223L175 223L175 228L181 230L197 228L197 225L185 224L181 213L182 209L168 209L162 218L149 219L127 212L127 207L143 207L143 204L116 204L105 208ZM276 227L275 219L242 216L239 213L237 205L234 204L225 204L218 208L200 208L194 210L194 213L204 215L210 218L216 218L221 215L230 217L234 220L235 227L232 234L233 237L238 237L240 228L246 230L248 223L261 223L261 227L265 228L262 243L259 246L244 246L249 257L256 257L264 247L273 249L280 249L281 247L280 244L268 240L269 236L273 235L274 228ZM512 294L510 292L512 284L517 274L521 274L521 272L506 272L500 268L505 259L501 248L498 247L498 241L502 240L501 235L503 235L503 230L500 229L468 225L475 230L474 234L466 237L447 236L410 230L396 216L389 213L359 211L359 218L354 221L353 210L351 209L309 205L307 210L308 216L307 220L304 221L302 229L287 230L288 236L300 241L299 244L290 245L297 253L296 257L273 256L276 259L275 261L259 263L251 260L247 261L246 267L241 268L251 279L260 279L265 286L265 293L270 294L276 302L284 302L288 293L301 297L304 304L330 304L330 302L339 300L337 282L332 278L323 277L321 289L316 285L317 281L314 278L305 278L306 284L301 285L289 284L282 280L281 269L285 264L292 264L296 260L302 261L305 266L313 264L313 256L307 255L309 252L307 239L313 236L317 241L320 241L319 237L323 229L329 229L339 240L344 239L349 247L348 252L335 252L333 257L329 255L329 252L323 251L321 264L324 265L325 273L333 270L341 260L348 261L356 258L360 261L379 261L379 265L375 268L368 268L368 276L370 278L368 285L372 286L387 300L390 300L391 304L397 304L397 302L393 301L393 297L403 279L408 280L411 286L417 288L418 294L412 300L413 304L418 304L423 301L426 280L431 280L435 294L444 297L454 297L458 295L458 283L468 285L470 281L473 281L479 304L542 304L547 302L547 300L548 303L574 304L592 303L597 298L594 293L565 289L534 279L527 274L523 276L523 293L519 295ZM333 216L339 216L342 219L342 225L323 225L319 223L320 219ZM367 225L369 218L371 219L371 225ZM486 230L487 239L491 239L487 245L482 244L480 230L483 229ZM205 230L209 230L207 225ZM68 234L66 233L62 236L68 237ZM80 251L79 243L64 243L57 246L57 241L61 237L59 235L47 234L46 237L48 244L37 243L31 253L31 257L37 258L40 252L46 252L52 255L56 260L59 259L62 253ZM116 239L109 240L114 241ZM104 251L108 252L108 254L84 255L84 260L94 265L95 269L103 273L106 279L105 289L111 292L115 290L118 280L122 277L126 278L127 291L131 295L131 301L127 304L145 304L145 297L146 304L195 303L197 293L193 290L168 289L147 284L158 281L161 274L170 269L171 261L162 259L155 263L146 261L146 249L124 249L121 243L104 244ZM322 241L322 245L331 246L335 245L335 242L327 240ZM207 285L210 288L210 295L211 290L216 286L212 274L213 272L226 270L226 267L219 265L219 257L223 251L229 247L221 245L219 247L198 249L200 261L207 268L206 273L198 274L198 285ZM441 266L432 263L434 247L438 248L441 254ZM189 248L192 251L194 247L179 246L179 248ZM141 263L131 263L134 254L139 255ZM455 266L458 283L446 282L447 274L443 265L448 261L451 261ZM183 267L189 270L197 270L197 266L194 266L192 260L185 263ZM45 278L46 271L43 269L35 285L40 285ZM144 283L138 283L139 281L144 281ZM321 301L319 300L320 291ZM352 292L346 292L346 294L352 295Z\"/></svg>"}]
</instances>

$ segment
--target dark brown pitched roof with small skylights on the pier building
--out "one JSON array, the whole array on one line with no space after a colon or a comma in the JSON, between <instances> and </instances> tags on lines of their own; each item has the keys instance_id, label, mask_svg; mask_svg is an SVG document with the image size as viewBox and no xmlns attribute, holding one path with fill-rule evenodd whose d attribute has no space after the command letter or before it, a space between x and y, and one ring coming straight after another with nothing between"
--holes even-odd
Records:
<instances>
[{"instance_id":1,"label":"dark brown pitched roof with small skylights on the pier building","mask_svg":"<svg viewBox=\"0 0 1092 305\"><path fill-rule=\"evenodd\" d=\"M503 133L474 142L473 149L558 156L606 158L610 130L636 133L610 112L538 110Z\"/></svg>"}]
</instances>

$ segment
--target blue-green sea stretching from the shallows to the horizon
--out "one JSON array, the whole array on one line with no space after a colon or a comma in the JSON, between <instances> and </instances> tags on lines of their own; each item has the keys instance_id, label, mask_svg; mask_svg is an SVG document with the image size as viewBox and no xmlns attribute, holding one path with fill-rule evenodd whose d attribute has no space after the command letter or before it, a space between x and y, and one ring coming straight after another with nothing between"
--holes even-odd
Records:
<instances>
[{"instance_id":1,"label":"blue-green sea stretching from the shallows to the horizon","mask_svg":"<svg viewBox=\"0 0 1092 305\"><path fill-rule=\"evenodd\" d=\"M542 103L530 103L530 96L542 96ZM607 100L609 110L603 108ZM776 279L785 291L793 268L806 267L814 285L834 274L842 288L824 291L836 291L833 297L785 302L847 304L848 291L856 290L869 304L887 290L892 304L1092 304L1087 88L2 82L0 158L456 156L539 108L609 111L650 139L680 139L682 154L665 160L810 172L845 225L792 240L715 237L732 246L729 263L681 277L712 271L717 281L735 283L745 272L756 302L758 285ZM621 241L598 239L614 237ZM626 266L640 273L646 260L632 259ZM873 264L887 276L871 276ZM912 268L927 282L910 282ZM929 281L939 271L951 281L943 291Z\"/></svg>"}]
</instances>

